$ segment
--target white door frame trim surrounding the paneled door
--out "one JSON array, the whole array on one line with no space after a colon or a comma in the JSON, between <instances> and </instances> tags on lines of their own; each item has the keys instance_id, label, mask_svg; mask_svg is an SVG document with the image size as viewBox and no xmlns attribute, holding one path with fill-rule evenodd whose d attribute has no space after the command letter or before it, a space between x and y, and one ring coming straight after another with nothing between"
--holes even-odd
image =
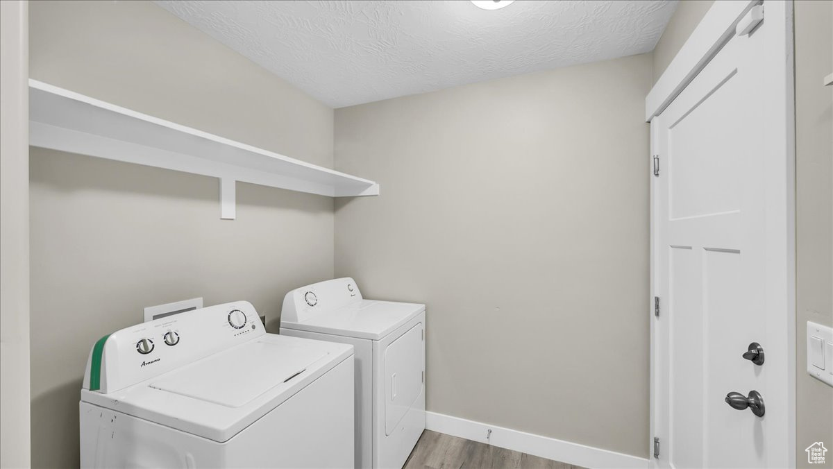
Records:
<instances>
[{"instance_id":1,"label":"white door frame trim surrounding the paneled door","mask_svg":"<svg viewBox=\"0 0 833 469\"><path fill-rule=\"evenodd\" d=\"M720 52L721 48L735 35L735 28L746 13L758 4L764 4L764 22L767 27L777 27L779 35L784 38L773 50L774 67L778 70L768 79L778 80L778 87L784 90L783 99L776 102L775 119L768 123L767 135L773 145L784 149L784 159L776 163L786 163L781 167L767 165L765 177L768 187L773 187L767 194L766 213L768 219L776 220L772 227L768 222L765 233L767 252L767 282L784 285L782 291L768 292L766 298L767 322L781 322L784 328L782 344L786 344L787 382L777 392L785 397L787 403L786 428L784 433L786 448L783 454L786 461L779 464L793 467L796 464L796 143L795 143L795 87L794 87L794 48L793 48L793 3L792 0L729 0L715 2L706 16L686 43L676 54L671 64L656 81L645 99L646 122L651 123L651 154L646 160L646 170L653 171L653 155L659 147L655 122L652 121L682 92L697 76L706 64ZM781 34L782 32L782 34ZM655 185L651 176L651 292L649 296L651 323L651 369L650 369L650 419L648 454L656 467L658 461L654 454L654 435L657 417L656 402L656 317L654 316L654 297L656 295L656 239L658 229L655 222ZM783 222L783 224L781 223ZM773 254L775 253L775 254ZM667 448L667 446L666 446ZM667 451L667 450L666 450Z\"/></svg>"}]
</instances>

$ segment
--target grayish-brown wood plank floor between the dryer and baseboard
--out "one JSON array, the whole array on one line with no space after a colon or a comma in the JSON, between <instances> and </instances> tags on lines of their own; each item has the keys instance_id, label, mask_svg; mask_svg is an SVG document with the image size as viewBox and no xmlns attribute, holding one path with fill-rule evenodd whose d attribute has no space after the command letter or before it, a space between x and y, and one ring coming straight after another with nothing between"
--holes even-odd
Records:
<instances>
[{"instance_id":1,"label":"grayish-brown wood plank floor between the dryer and baseboard","mask_svg":"<svg viewBox=\"0 0 833 469\"><path fill-rule=\"evenodd\" d=\"M522 452L472 442L451 435L422 433L414 451L405 462L405 469L461 469L511 468L511 469L581 469L563 462L551 461Z\"/></svg>"}]
</instances>

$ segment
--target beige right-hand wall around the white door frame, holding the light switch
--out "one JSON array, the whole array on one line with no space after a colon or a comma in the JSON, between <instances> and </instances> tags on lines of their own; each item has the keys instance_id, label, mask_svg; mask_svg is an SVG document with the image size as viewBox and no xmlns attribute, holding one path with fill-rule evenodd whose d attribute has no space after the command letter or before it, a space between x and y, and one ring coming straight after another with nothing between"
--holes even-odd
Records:
<instances>
[{"instance_id":1,"label":"beige right-hand wall around the white door frame, holding the light switch","mask_svg":"<svg viewBox=\"0 0 833 469\"><path fill-rule=\"evenodd\" d=\"M706 4L707 3L707 4ZM654 51L654 77L711 2L683 0ZM795 2L796 38L796 466L806 447L833 441L833 388L806 372L806 323L833 326L833 2Z\"/></svg>"}]
</instances>

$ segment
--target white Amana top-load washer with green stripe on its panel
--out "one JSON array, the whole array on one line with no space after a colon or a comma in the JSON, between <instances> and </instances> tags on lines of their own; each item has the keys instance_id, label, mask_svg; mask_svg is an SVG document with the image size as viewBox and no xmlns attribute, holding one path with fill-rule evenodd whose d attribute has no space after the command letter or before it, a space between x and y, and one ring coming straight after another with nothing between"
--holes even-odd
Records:
<instances>
[{"instance_id":1,"label":"white Amana top-load washer with green stripe on its panel","mask_svg":"<svg viewBox=\"0 0 833 469\"><path fill-rule=\"evenodd\" d=\"M87 360L81 467L352 467L353 367L248 302L127 327Z\"/></svg>"}]
</instances>

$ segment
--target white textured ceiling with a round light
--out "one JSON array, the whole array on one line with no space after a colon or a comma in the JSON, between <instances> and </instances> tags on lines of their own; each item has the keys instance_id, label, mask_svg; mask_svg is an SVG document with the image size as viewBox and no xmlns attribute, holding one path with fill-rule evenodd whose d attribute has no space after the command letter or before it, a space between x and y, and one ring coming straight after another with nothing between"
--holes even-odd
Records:
<instances>
[{"instance_id":1,"label":"white textured ceiling with a round light","mask_svg":"<svg viewBox=\"0 0 833 469\"><path fill-rule=\"evenodd\" d=\"M675 1L157 4L332 107L650 52Z\"/></svg>"}]
</instances>

